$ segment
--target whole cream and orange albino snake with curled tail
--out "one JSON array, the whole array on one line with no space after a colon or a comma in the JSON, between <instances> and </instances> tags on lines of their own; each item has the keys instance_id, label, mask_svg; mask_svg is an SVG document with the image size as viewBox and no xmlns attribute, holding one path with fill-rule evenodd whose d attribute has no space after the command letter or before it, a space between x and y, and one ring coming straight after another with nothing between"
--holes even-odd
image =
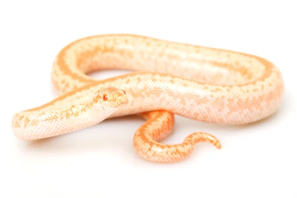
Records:
<instances>
[{"instance_id":1,"label":"whole cream and orange albino snake with curled tail","mask_svg":"<svg viewBox=\"0 0 297 198\"><path fill-rule=\"evenodd\" d=\"M103 80L89 75L111 69L131 72ZM180 144L162 144L174 131L175 115L245 125L274 114L284 92L280 69L263 57L133 34L93 35L67 44L54 57L50 76L58 96L13 115L17 139L50 138L136 115L145 122L133 148L159 163L184 160L197 143L221 148L218 138L201 131Z\"/></svg>"}]
</instances>

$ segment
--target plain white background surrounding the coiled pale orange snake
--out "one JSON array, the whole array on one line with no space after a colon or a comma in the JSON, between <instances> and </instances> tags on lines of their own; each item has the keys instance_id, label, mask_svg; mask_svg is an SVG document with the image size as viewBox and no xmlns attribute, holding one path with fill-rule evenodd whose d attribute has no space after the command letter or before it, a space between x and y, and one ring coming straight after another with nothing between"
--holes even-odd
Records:
<instances>
[{"instance_id":1,"label":"plain white background surrounding the coiled pale orange snake","mask_svg":"<svg viewBox=\"0 0 297 198\"><path fill-rule=\"evenodd\" d=\"M297 15L282 1L6 1L0 3L0 197L297 197ZM189 158L156 164L134 151L133 116L55 138L25 142L11 132L20 110L54 99L51 63L68 43L90 35L140 34L232 49L276 63L285 79L280 109L248 126L218 126L176 116L180 143L192 132L217 136ZM108 78L127 71L93 74Z\"/></svg>"}]
</instances>

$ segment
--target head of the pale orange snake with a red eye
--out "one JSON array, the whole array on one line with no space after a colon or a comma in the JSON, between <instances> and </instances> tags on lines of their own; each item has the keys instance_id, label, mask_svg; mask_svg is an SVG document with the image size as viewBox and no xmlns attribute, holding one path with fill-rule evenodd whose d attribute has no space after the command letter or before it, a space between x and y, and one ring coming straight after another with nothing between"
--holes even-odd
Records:
<instances>
[{"instance_id":1,"label":"head of the pale orange snake with a red eye","mask_svg":"<svg viewBox=\"0 0 297 198\"><path fill-rule=\"evenodd\" d=\"M117 109L127 105L128 98L124 90L108 87L97 91L91 103L103 109Z\"/></svg>"}]
</instances>

